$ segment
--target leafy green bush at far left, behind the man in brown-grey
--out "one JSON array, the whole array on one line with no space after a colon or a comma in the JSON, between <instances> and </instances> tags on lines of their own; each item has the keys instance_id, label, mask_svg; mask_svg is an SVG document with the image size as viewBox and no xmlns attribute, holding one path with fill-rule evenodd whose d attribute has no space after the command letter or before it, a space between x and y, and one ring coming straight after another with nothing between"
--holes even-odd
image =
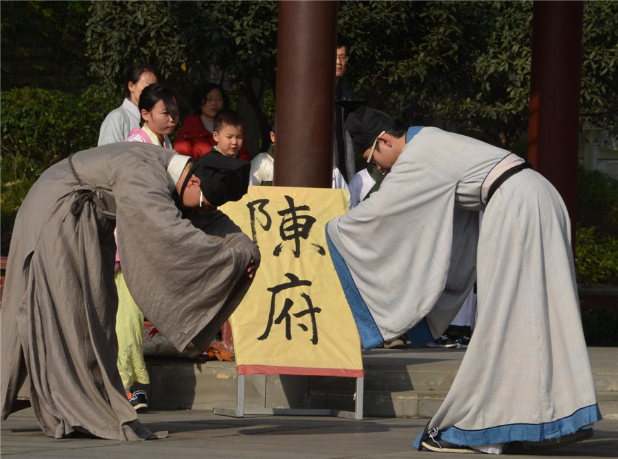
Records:
<instances>
[{"instance_id":1,"label":"leafy green bush at far left, behind the man in brown-grey","mask_svg":"<svg viewBox=\"0 0 618 459\"><path fill-rule=\"evenodd\" d=\"M98 86L80 96L31 88L1 94L2 255L8 250L15 214L32 183L60 159L95 147L105 115L121 101L111 89Z\"/></svg>"}]
</instances>

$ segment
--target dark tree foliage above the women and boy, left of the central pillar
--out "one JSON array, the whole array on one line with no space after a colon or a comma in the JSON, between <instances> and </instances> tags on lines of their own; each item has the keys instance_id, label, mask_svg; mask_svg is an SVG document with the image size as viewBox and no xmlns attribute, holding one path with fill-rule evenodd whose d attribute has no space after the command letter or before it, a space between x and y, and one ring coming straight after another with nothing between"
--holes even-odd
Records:
<instances>
[{"instance_id":1,"label":"dark tree foliage above the women and boy, left of the central pillar","mask_svg":"<svg viewBox=\"0 0 618 459\"><path fill-rule=\"evenodd\" d=\"M264 89L275 87L277 3L272 1L92 2L87 24L90 71L119 81L135 62L155 66L179 90L229 82L253 108L265 137Z\"/></svg>"}]
</instances>

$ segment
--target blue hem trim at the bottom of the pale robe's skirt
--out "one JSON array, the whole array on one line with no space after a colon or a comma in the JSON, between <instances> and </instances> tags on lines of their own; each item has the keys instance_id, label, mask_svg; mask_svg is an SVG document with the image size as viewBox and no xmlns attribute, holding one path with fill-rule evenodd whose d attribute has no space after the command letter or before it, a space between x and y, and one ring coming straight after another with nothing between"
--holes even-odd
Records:
<instances>
[{"instance_id":1,"label":"blue hem trim at the bottom of the pale robe's skirt","mask_svg":"<svg viewBox=\"0 0 618 459\"><path fill-rule=\"evenodd\" d=\"M444 430L444 432L440 432L439 438L461 446L496 445L511 441L542 441L573 434L584 425L595 423L601 419L599 406L595 403L594 405L580 408L571 416L550 423L507 424L480 430L464 430L450 427ZM419 447L422 435L420 434L414 440L413 446L415 448Z\"/></svg>"}]
</instances>

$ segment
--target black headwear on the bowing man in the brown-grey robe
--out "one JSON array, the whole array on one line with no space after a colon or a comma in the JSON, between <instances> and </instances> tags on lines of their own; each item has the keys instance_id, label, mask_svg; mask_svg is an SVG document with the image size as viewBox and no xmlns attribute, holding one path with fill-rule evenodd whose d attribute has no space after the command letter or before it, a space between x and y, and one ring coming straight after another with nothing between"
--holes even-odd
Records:
<instances>
[{"instance_id":1,"label":"black headwear on the bowing man in the brown-grey robe","mask_svg":"<svg viewBox=\"0 0 618 459\"><path fill-rule=\"evenodd\" d=\"M247 193L251 163L230 158L218 152L209 152L195 161L185 178L180 193L182 201L191 176L200 179L200 188L210 204L219 207L228 201L238 201Z\"/></svg>"}]
</instances>

